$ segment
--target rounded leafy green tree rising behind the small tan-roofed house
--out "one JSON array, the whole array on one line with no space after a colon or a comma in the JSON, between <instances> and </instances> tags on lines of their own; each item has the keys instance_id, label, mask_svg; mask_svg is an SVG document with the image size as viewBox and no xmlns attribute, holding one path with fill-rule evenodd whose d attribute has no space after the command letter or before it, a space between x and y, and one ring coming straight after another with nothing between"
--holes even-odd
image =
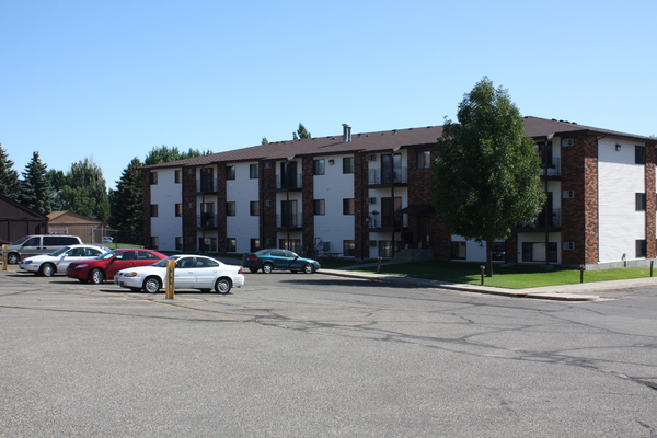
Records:
<instances>
[{"instance_id":1,"label":"rounded leafy green tree rising behind the small tan-roofed house","mask_svg":"<svg viewBox=\"0 0 657 438\"><path fill-rule=\"evenodd\" d=\"M103 170L90 159L71 164L60 192L62 207L106 222L110 219L110 199Z\"/></svg>"}]
</instances>

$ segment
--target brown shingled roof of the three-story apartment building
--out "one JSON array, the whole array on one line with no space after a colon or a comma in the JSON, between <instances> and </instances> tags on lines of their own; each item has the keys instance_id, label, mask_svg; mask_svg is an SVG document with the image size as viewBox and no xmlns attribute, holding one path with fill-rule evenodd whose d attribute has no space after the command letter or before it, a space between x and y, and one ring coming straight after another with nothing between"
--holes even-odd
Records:
<instances>
[{"instance_id":1,"label":"brown shingled roof of the three-story apartment building","mask_svg":"<svg viewBox=\"0 0 657 438\"><path fill-rule=\"evenodd\" d=\"M624 138L643 142L656 142L650 137L635 136L609 129L593 128L577 125L570 122L548 119L540 117L525 117L525 135L532 138L549 135L563 136L577 132L597 134L614 138ZM268 145L253 146L250 148L234 149L226 152L194 157L184 160L171 161L141 169L203 166L217 162L239 162L255 160L285 160L292 157L327 155L349 152L381 152L399 150L411 147L433 146L442 136L442 126L427 126L422 128L393 129L378 132L362 132L351 135L351 141L343 142L343 136L316 137L299 140L270 142Z\"/></svg>"}]
</instances>

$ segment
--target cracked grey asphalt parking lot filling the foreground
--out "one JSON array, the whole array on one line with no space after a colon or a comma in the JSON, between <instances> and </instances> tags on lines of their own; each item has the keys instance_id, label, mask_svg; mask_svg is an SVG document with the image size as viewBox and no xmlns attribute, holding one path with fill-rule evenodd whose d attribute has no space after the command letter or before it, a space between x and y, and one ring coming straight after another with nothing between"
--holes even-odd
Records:
<instances>
[{"instance_id":1,"label":"cracked grey asphalt parking lot filling the foreground","mask_svg":"<svg viewBox=\"0 0 657 438\"><path fill-rule=\"evenodd\" d=\"M622 300L321 273L247 274L229 295L165 300L12 269L0 272L0 436L650 437L657 426L655 319L637 310L629 322Z\"/></svg>"}]
</instances>

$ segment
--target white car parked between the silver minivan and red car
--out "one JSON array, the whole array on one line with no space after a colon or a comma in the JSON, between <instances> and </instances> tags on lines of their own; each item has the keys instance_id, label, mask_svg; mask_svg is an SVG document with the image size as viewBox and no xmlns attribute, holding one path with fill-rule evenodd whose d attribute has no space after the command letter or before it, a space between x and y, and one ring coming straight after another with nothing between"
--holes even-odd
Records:
<instances>
[{"instance_id":1,"label":"white car parked between the silver minivan and red car","mask_svg":"<svg viewBox=\"0 0 657 438\"><path fill-rule=\"evenodd\" d=\"M72 262L94 258L107 251L110 249L103 245L69 245L50 254L33 255L24 258L19 266L30 273L50 277L55 273L66 274L68 265Z\"/></svg>"}]
</instances>

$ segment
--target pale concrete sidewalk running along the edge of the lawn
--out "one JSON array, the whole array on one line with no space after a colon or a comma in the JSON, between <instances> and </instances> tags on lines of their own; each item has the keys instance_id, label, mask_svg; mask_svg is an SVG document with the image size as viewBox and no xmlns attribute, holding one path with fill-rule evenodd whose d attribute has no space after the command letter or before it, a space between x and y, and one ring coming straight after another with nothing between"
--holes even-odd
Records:
<instances>
[{"instance_id":1,"label":"pale concrete sidewalk running along the edge of the lawn","mask_svg":"<svg viewBox=\"0 0 657 438\"><path fill-rule=\"evenodd\" d=\"M320 273L341 277L383 281L400 286L452 289L465 292L489 293L515 298L538 298L543 300L562 301L598 301L602 300L602 298L597 295L591 295L590 292L595 292L596 290L626 289L638 286L657 286L657 277L652 277L627 280L581 283L576 285L544 286L528 289L505 289L491 286L465 285L459 283L430 280L425 278L401 277L396 275L360 273L351 270L353 268L359 268L362 266L376 266L376 264L353 266L349 269L321 269Z\"/></svg>"}]
</instances>

